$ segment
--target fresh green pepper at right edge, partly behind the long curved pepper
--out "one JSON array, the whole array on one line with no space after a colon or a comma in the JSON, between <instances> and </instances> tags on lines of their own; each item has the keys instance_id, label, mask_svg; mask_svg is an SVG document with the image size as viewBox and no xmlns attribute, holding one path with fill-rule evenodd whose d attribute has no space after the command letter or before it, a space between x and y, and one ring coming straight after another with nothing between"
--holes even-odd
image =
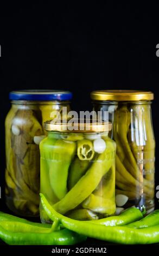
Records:
<instances>
[{"instance_id":1,"label":"fresh green pepper at right edge, partly behind the long curved pepper","mask_svg":"<svg viewBox=\"0 0 159 256\"><path fill-rule=\"evenodd\" d=\"M129 228L147 228L154 225L159 225L159 210L152 211L148 216L145 216L142 220L132 222L126 227Z\"/></svg>"}]
</instances>

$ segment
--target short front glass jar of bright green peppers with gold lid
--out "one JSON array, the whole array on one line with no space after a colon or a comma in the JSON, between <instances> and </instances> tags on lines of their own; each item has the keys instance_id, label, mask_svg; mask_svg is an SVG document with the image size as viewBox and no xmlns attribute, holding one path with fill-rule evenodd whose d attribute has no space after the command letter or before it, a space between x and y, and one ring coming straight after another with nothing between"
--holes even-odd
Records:
<instances>
[{"instance_id":1,"label":"short front glass jar of bright green peppers with gold lid","mask_svg":"<svg viewBox=\"0 0 159 256\"><path fill-rule=\"evenodd\" d=\"M63 130L61 123L44 123L48 136L40 143L40 191L61 214L96 220L116 211L116 143L108 137L110 123L77 127L71 131L69 124ZM51 222L41 205L40 216L43 223Z\"/></svg>"}]
</instances>

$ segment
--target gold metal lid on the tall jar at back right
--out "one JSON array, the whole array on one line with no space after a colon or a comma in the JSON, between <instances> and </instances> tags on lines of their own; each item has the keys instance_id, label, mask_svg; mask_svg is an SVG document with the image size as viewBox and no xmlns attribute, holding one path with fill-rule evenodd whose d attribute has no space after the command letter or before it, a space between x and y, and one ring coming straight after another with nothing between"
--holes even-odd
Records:
<instances>
[{"instance_id":1,"label":"gold metal lid on the tall jar at back right","mask_svg":"<svg viewBox=\"0 0 159 256\"><path fill-rule=\"evenodd\" d=\"M154 94L142 90L95 90L91 93L91 99L102 101L154 100Z\"/></svg>"}]
</instances>

